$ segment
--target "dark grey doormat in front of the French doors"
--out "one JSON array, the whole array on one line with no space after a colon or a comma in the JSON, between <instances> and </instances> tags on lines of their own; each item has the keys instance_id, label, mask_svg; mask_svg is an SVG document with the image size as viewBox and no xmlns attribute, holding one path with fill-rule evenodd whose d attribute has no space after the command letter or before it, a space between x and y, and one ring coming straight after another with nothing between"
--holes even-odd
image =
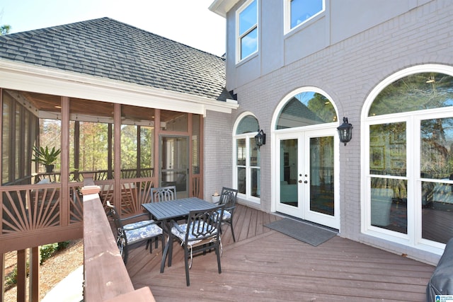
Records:
<instances>
[{"instance_id":1,"label":"dark grey doormat in front of the French doors","mask_svg":"<svg viewBox=\"0 0 453 302\"><path fill-rule=\"evenodd\" d=\"M268 223L265 226L313 246L318 246L337 235L334 231L288 218Z\"/></svg>"}]
</instances>

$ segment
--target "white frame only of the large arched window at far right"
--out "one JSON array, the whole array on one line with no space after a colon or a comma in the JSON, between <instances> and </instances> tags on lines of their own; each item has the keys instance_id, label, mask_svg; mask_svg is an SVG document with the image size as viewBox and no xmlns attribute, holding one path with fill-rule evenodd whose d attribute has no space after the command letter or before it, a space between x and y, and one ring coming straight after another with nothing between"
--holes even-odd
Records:
<instances>
[{"instance_id":1,"label":"white frame only of the large arched window at far right","mask_svg":"<svg viewBox=\"0 0 453 302\"><path fill-rule=\"evenodd\" d=\"M437 72L441 74L449 74L453 76L453 67L439 64L425 64L420 66L413 66L408 69L392 74L387 79L384 79L379 83L371 93L369 93L365 105L362 110L362 132L361 132L361 166L362 166L362 180L361 180L361 230L369 236L388 240L393 243L406 245L411 248L423 250L426 252L432 252L437 255L442 255L445 244L436 243L434 241L426 240L422 238L421 234L421 223L417 217L420 217L421 211L421 196L420 192L420 152L407 152L406 161L411 163L407 165L406 177L408 181L408 199L414 202L409 207L407 213L408 229L407 233L398 233L389 231L384 228L371 225L371 192L369 191L369 127L372 124L383 124L386 122L406 122L406 136L407 136L407 150L420 150L420 120L429 118L439 117L452 117L453 108L435 108L429 110L420 110L415 112L401 112L389 115L377 115L375 117L369 117L368 112L374 99L379 93L389 86L394 81L401 79L411 74L419 74L423 72Z\"/></svg>"}]
</instances>

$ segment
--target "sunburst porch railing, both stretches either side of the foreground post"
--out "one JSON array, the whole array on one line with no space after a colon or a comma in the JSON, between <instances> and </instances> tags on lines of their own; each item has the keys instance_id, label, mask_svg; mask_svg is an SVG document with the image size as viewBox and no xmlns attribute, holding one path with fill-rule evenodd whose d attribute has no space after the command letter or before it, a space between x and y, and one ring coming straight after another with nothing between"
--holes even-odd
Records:
<instances>
[{"instance_id":1,"label":"sunburst porch railing, both stretches either side of the foreground post","mask_svg":"<svg viewBox=\"0 0 453 302\"><path fill-rule=\"evenodd\" d=\"M116 192L115 180L96 181L101 204L114 202L122 216L143 211L142 203L151 201L149 190L154 183L154 178L125 178ZM0 252L81 238L82 186L84 182L0 186Z\"/></svg>"}]
</instances>

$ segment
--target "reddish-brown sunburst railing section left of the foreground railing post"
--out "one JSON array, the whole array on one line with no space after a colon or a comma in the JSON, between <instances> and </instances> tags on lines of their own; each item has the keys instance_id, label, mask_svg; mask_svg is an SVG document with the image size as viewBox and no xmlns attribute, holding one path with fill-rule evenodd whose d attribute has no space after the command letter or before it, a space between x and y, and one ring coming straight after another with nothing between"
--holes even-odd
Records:
<instances>
[{"instance_id":1,"label":"reddish-brown sunburst railing section left of the foreground railing post","mask_svg":"<svg viewBox=\"0 0 453 302\"><path fill-rule=\"evenodd\" d=\"M0 252L81 238L81 185L0 186Z\"/></svg>"}]
</instances>

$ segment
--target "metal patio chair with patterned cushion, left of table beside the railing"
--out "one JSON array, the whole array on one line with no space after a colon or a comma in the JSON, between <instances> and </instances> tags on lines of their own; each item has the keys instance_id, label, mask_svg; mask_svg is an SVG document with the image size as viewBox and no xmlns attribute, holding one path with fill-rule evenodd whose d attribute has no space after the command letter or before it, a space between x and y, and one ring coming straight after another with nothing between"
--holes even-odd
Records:
<instances>
[{"instance_id":1,"label":"metal patio chair with patterned cushion, left of table beside the railing","mask_svg":"<svg viewBox=\"0 0 453 302\"><path fill-rule=\"evenodd\" d=\"M154 220L142 220L137 221L134 223L127 223L123 224L123 222L137 219L140 216L148 216L148 214L138 214L134 216L130 216L124 219L120 219L120 215L118 214L115 206L110 204L107 201L107 207L110 210L109 214L112 216L113 221L115 222L115 227L117 231L116 236L116 243L118 248L120 249L120 255L122 260L127 263L127 254L129 252L129 246L134 243L139 243L144 240L147 240L147 248L149 245L149 252L152 252L152 245L151 240L156 240L156 247L157 247L157 238L161 237L162 242L162 250L164 250L164 235L162 232L162 228L156 224Z\"/></svg>"}]
</instances>

